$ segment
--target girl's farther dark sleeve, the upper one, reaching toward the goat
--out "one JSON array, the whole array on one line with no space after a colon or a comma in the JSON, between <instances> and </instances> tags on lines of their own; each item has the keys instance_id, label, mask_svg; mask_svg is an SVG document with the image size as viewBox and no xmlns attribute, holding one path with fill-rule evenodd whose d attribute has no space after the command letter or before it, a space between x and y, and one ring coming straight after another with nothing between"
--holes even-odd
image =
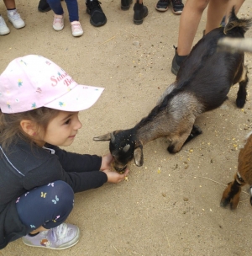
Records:
<instances>
[{"instance_id":1,"label":"girl's farther dark sleeve, the upper one, reaching toward the goat","mask_svg":"<svg viewBox=\"0 0 252 256\"><path fill-rule=\"evenodd\" d=\"M74 152L66 152L60 147L49 145L55 150L55 155L59 157L62 168L67 173L76 172L93 172L99 171L102 165L102 157L97 155L78 154Z\"/></svg>"}]
</instances>

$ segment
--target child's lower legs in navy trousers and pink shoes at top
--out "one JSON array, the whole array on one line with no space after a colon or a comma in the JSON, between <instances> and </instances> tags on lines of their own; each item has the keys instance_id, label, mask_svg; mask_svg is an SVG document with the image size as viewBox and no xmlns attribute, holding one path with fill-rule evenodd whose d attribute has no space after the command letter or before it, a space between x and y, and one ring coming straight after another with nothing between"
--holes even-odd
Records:
<instances>
[{"instance_id":1,"label":"child's lower legs in navy trousers and pink shoes at top","mask_svg":"<svg viewBox=\"0 0 252 256\"><path fill-rule=\"evenodd\" d=\"M71 34L73 36L83 35L83 29L81 28L81 24L79 22L79 9L77 0L65 0L65 2L71 23ZM62 30L64 28L64 11L60 0L47 0L47 3L49 3L50 8L55 13L53 28L56 31Z\"/></svg>"}]
</instances>

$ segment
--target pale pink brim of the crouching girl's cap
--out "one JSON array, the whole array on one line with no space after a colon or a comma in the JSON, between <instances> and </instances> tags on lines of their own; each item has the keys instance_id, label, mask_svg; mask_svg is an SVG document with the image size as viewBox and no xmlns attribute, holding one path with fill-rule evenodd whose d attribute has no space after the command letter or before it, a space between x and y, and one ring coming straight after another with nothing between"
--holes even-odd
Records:
<instances>
[{"instance_id":1,"label":"pale pink brim of the crouching girl's cap","mask_svg":"<svg viewBox=\"0 0 252 256\"><path fill-rule=\"evenodd\" d=\"M103 90L104 88L77 84L68 93L44 106L62 111L81 111L92 107L101 96Z\"/></svg>"}]
</instances>

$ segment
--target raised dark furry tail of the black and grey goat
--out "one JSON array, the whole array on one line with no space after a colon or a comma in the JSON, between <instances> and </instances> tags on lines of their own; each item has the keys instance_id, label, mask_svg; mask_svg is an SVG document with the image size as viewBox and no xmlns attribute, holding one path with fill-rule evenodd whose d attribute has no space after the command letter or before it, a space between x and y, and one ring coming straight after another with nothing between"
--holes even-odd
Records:
<instances>
[{"instance_id":1,"label":"raised dark furry tail of the black and grey goat","mask_svg":"<svg viewBox=\"0 0 252 256\"><path fill-rule=\"evenodd\" d=\"M238 19L234 13L234 7L230 13L228 24L226 24L224 28L224 34L228 35L228 32L234 28L242 29L243 33L245 33L252 26L252 19Z\"/></svg>"}]
</instances>

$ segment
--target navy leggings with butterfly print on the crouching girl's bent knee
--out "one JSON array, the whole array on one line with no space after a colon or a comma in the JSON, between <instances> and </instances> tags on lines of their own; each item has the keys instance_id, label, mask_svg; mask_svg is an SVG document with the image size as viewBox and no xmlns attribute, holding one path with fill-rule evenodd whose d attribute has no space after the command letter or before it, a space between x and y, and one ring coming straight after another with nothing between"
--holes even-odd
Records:
<instances>
[{"instance_id":1,"label":"navy leggings with butterfly print on the crouching girl's bent knee","mask_svg":"<svg viewBox=\"0 0 252 256\"><path fill-rule=\"evenodd\" d=\"M74 192L69 184L57 180L32 189L16 201L20 220L29 232L38 227L57 227L69 216L74 205Z\"/></svg>"}]
</instances>

